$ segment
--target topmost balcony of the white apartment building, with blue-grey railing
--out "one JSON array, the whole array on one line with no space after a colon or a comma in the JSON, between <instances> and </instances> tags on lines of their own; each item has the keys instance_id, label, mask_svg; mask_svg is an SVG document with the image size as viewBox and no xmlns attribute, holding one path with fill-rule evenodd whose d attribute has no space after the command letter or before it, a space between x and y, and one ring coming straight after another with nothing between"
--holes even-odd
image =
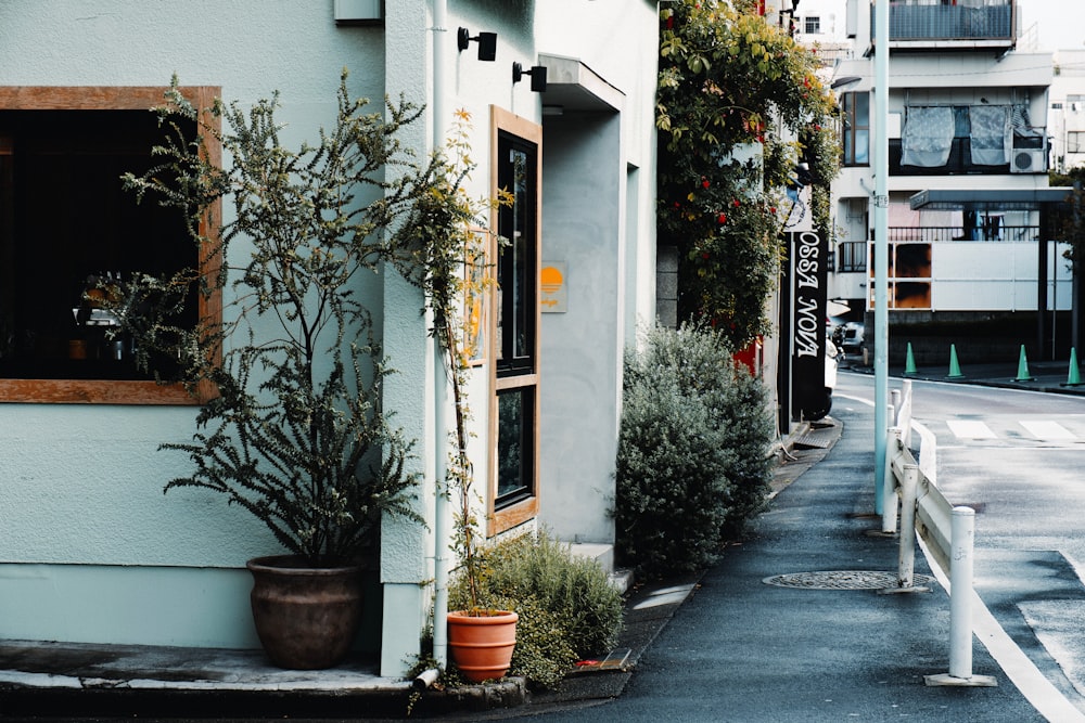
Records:
<instances>
[{"instance_id":1,"label":"topmost balcony of the white apartment building, with blue-grey railing","mask_svg":"<svg viewBox=\"0 0 1085 723\"><path fill-rule=\"evenodd\" d=\"M890 4L891 50L1010 50L1016 42L1014 0L901 0ZM870 37L877 34L871 2ZM877 46L877 39L875 40Z\"/></svg>"}]
</instances>

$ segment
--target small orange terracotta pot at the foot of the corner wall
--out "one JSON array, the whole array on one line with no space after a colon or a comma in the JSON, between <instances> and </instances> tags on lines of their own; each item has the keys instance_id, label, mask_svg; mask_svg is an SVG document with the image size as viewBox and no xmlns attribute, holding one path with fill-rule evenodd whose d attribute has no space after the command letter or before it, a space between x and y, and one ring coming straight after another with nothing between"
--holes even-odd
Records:
<instances>
[{"instance_id":1,"label":"small orange terracotta pot at the foot of the corner wall","mask_svg":"<svg viewBox=\"0 0 1085 723\"><path fill-rule=\"evenodd\" d=\"M464 610L448 614L448 649L464 679L482 683L509 672L519 619L508 610L477 616Z\"/></svg>"}]
</instances>

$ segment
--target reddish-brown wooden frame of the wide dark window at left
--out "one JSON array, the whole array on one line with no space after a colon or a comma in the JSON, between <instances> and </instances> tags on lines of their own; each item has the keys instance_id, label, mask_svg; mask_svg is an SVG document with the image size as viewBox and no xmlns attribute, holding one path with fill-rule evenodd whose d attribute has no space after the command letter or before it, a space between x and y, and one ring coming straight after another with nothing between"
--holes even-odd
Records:
<instances>
[{"instance_id":1,"label":"reddish-brown wooden frame of the wide dark window at left","mask_svg":"<svg viewBox=\"0 0 1085 723\"><path fill-rule=\"evenodd\" d=\"M201 122L213 128L219 120L212 115L215 99L221 95L218 86L190 86L179 89L192 104L200 108ZM146 111L165 102L166 89L157 86L7 86L0 87L0 109L3 111ZM207 139L208 159L219 165L221 147L213 138ZM210 216L221 218L221 204L215 202ZM214 233L205 218L200 232ZM200 267L214 273L221 258L217 253L203 254ZM209 298L201 296L200 319L221 319L222 299L216 292ZM193 396L180 384L158 384L154 380L114 379L12 379L0 378L0 403L56 403L56 404L202 404L213 396L207 385L202 385Z\"/></svg>"}]
</instances>

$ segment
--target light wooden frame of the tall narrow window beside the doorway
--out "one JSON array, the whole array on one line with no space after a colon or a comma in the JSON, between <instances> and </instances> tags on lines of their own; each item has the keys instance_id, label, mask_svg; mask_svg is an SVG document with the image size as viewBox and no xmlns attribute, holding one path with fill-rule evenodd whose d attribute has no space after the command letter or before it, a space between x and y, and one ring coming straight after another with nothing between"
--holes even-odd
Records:
<instances>
[{"instance_id":1,"label":"light wooden frame of the tall narrow window beside the doorway","mask_svg":"<svg viewBox=\"0 0 1085 723\"><path fill-rule=\"evenodd\" d=\"M534 519L538 516L539 511L539 498L541 496L541 489L539 489L539 406L540 406L540 393L539 393L539 326L540 326L540 314L538 299L540 295L539 289L539 272L541 270L542 263L542 127L538 124L532 122L526 118L522 118L514 115L508 111L497 107L496 105L490 106L489 115L489 129L490 129L490 193L494 197L497 196L498 192L498 142L501 133L507 133L521 138L529 143L535 144L537 157L537 175L535 183L535 322L534 334L534 370L531 373L521 373L511 376L498 376L497 373L497 352L494 346L496 345L496 323L497 323L497 300L496 291L495 298L490 304L490 308L494 309L494 313L490 314L490 328L492 333L489 335L489 346L490 353L489 359L492 363L489 364L489 483L488 483L488 494L486 499L487 506L487 537L494 537L500 534L506 530L510 530L514 527L523 525L524 522ZM497 229L497 214L495 210L490 218L490 228ZM497 253L493 257L494 261L497 262ZM534 398L534 410L531 411L532 414L532 429L534 435L534 444L532 453L532 477L534 480L534 493L524 499L513 502L500 509L495 508L495 503L497 501L497 486L498 486L498 464L497 464L497 419L498 419L498 405L497 405L497 395L501 390L514 389L522 387L534 387L535 393Z\"/></svg>"}]
</instances>

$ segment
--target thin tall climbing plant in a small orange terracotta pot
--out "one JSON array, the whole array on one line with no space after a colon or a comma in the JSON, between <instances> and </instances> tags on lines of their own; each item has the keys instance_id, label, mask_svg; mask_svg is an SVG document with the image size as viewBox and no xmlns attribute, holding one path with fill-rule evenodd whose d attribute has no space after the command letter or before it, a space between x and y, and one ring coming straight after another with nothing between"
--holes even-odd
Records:
<instances>
[{"instance_id":1,"label":"thin tall climbing plant in a small orange terracotta pot","mask_svg":"<svg viewBox=\"0 0 1085 723\"><path fill-rule=\"evenodd\" d=\"M480 599L480 580L485 574L485 556L473 509L474 467L468 454L470 408L467 376L470 348L474 338L470 314L464 306L470 298L484 295L493 283L486 263L486 222L483 214L511 203L501 190L496 198L476 201L462 188L472 164L467 142L470 115L458 111L449 140L451 160L439 166L432 194L420 198L411 221L399 232L399 246L416 249L416 273L408 279L424 292L431 312L431 334L436 339L448 372L455 409L455 428L450 430L451 450L445 470L445 493L455 495L452 550L460 559L467 580L470 604L465 609L447 614L448 647L452 661L464 679L482 682L502 677L509 669L515 646L519 616L513 610L493 609Z\"/></svg>"}]
</instances>

